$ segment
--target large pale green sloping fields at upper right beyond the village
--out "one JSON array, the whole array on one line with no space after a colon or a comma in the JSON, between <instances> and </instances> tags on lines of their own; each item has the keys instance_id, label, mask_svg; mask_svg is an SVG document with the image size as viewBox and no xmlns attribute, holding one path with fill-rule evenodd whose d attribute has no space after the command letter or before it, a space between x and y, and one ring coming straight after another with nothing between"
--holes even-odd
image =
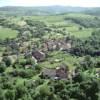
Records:
<instances>
[{"instance_id":1,"label":"large pale green sloping fields at upper right beyond the village","mask_svg":"<svg viewBox=\"0 0 100 100\"><path fill-rule=\"evenodd\" d=\"M31 19L40 20L46 22L48 25L60 25L62 26L60 29L65 28L66 32L74 35L78 38L86 38L91 35L91 33L95 30L94 28L83 28L79 30L79 24L72 22L70 20L64 20L64 18L82 18L82 19L94 19L95 16L87 15L87 14L75 14L75 13L68 13L64 15L52 15L52 16L33 16Z\"/></svg>"}]
</instances>

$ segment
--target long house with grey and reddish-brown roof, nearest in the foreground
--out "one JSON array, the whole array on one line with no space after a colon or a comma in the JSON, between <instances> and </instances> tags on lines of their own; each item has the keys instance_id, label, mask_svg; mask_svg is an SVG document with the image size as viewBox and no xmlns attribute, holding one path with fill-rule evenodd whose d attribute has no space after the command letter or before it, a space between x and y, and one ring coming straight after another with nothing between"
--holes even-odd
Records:
<instances>
[{"instance_id":1,"label":"long house with grey and reddish-brown roof, nearest in the foreground","mask_svg":"<svg viewBox=\"0 0 100 100\"><path fill-rule=\"evenodd\" d=\"M69 70L65 65L61 65L57 68L44 68L41 73L44 78L50 79L67 79L68 74Z\"/></svg>"}]
</instances>

